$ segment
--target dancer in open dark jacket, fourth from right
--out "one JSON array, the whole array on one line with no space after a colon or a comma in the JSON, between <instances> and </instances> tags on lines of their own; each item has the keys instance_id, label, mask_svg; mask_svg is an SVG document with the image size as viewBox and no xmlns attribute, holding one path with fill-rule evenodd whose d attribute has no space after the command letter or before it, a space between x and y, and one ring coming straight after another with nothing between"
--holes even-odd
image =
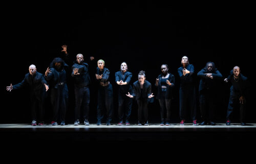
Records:
<instances>
[{"instance_id":1,"label":"dancer in open dark jacket, fourth from right","mask_svg":"<svg viewBox=\"0 0 256 164\"><path fill-rule=\"evenodd\" d=\"M161 115L161 123L160 125L169 126L170 125L170 104L172 101L172 90L175 83L175 77L173 74L168 72L168 65L161 65L162 74L159 75L156 79L157 86L157 99L160 104L160 115ZM166 115L166 116L165 116Z\"/></svg>"}]
</instances>

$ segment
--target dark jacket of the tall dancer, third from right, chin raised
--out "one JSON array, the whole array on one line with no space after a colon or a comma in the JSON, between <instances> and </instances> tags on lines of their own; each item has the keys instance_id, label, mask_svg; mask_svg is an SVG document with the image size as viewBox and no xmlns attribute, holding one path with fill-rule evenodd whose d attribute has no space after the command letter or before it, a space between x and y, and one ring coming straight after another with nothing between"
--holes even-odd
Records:
<instances>
[{"instance_id":1,"label":"dark jacket of the tall dancer, third from right, chin raised","mask_svg":"<svg viewBox=\"0 0 256 164\"><path fill-rule=\"evenodd\" d=\"M190 73L186 74L185 76L183 75L183 66L178 68L178 74L180 76L180 87L190 87L193 86L193 74L195 72L194 65L192 64L187 64L185 67Z\"/></svg>"}]
</instances>

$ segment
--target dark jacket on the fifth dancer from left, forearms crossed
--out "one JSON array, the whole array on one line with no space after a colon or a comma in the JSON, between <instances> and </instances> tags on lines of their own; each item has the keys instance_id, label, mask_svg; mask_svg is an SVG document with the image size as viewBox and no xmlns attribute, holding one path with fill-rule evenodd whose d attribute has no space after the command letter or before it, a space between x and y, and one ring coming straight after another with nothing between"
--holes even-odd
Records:
<instances>
[{"instance_id":1,"label":"dark jacket on the fifth dancer from left, forearms crossed","mask_svg":"<svg viewBox=\"0 0 256 164\"><path fill-rule=\"evenodd\" d=\"M131 79L132 79L133 74L126 71L124 74L122 73L122 71L118 71L115 73L115 77L116 77L116 82L122 80L123 82L127 82L126 85L118 85L119 86L119 91L122 93L126 93L130 92L132 93L132 86L130 85Z\"/></svg>"}]
</instances>

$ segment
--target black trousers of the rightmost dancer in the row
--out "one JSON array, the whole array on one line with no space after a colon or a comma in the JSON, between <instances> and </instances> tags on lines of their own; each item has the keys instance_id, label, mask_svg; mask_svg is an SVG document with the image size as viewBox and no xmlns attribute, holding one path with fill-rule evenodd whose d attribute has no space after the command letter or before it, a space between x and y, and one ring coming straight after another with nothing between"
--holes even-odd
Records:
<instances>
[{"instance_id":1,"label":"black trousers of the rightmost dancer in the row","mask_svg":"<svg viewBox=\"0 0 256 164\"><path fill-rule=\"evenodd\" d=\"M246 110L246 104L245 102L242 104L240 103L239 98L241 95L233 90L233 88L230 88L230 96L229 96L229 103L227 107L227 116L226 119L230 120L232 117L234 106L239 105L240 110L240 122L245 123L245 110Z\"/></svg>"}]
</instances>

